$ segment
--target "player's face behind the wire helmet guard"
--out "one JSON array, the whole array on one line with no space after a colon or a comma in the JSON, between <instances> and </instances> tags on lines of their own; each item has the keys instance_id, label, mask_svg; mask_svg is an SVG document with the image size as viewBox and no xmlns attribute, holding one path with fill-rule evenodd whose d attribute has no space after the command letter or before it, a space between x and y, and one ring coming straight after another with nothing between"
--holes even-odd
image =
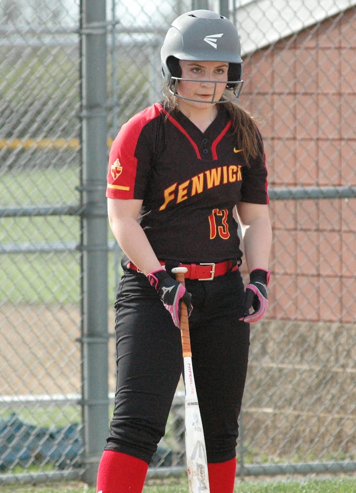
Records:
<instances>
[{"instance_id":1,"label":"player's face behind the wire helmet guard","mask_svg":"<svg viewBox=\"0 0 356 493\"><path fill-rule=\"evenodd\" d=\"M194 106L220 100L227 83L227 62L195 62L179 60L181 78L177 85L177 95Z\"/></svg>"}]
</instances>

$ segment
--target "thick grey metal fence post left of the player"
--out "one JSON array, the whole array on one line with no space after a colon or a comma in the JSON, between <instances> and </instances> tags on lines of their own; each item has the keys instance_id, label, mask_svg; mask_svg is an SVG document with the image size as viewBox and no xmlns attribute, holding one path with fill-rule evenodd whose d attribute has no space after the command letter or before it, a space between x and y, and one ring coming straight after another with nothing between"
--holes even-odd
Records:
<instances>
[{"instance_id":1,"label":"thick grey metal fence post left of the player","mask_svg":"<svg viewBox=\"0 0 356 493\"><path fill-rule=\"evenodd\" d=\"M82 413L86 468L94 484L108 429L107 40L105 0L82 0Z\"/></svg>"}]
</instances>

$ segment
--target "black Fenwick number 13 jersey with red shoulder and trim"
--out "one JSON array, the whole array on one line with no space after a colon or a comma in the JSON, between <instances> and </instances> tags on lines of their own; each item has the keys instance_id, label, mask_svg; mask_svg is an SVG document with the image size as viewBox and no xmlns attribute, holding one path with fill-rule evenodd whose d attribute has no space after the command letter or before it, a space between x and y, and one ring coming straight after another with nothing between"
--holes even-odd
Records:
<instances>
[{"instance_id":1,"label":"black Fenwick number 13 jersey with red shoulder and trim","mask_svg":"<svg viewBox=\"0 0 356 493\"><path fill-rule=\"evenodd\" d=\"M247 166L223 105L202 133L180 111L157 103L113 141L107 197L143 201L139 222L160 260L239 260L233 209L240 201L269 203L265 160Z\"/></svg>"}]
</instances>

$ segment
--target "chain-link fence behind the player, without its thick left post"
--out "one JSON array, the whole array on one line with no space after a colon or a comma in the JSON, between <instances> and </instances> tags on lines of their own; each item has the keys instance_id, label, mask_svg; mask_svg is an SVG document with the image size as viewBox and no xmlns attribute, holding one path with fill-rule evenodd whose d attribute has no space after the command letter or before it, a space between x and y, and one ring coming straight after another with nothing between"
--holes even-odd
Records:
<instances>
[{"instance_id":1,"label":"chain-link fence behind the player, without its thick left post","mask_svg":"<svg viewBox=\"0 0 356 493\"><path fill-rule=\"evenodd\" d=\"M170 22L206 7L240 33L240 103L264 137L274 230L239 474L356 470L356 1L112 0L106 22L86 27L77 1L2 0L0 484L85 478L97 460L86 458L83 412L82 38L107 34L108 149L122 123L161 98ZM101 166L106 173L106 155ZM108 238L112 397L120 252ZM183 467L181 403L179 387L150 474Z\"/></svg>"}]
</instances>

